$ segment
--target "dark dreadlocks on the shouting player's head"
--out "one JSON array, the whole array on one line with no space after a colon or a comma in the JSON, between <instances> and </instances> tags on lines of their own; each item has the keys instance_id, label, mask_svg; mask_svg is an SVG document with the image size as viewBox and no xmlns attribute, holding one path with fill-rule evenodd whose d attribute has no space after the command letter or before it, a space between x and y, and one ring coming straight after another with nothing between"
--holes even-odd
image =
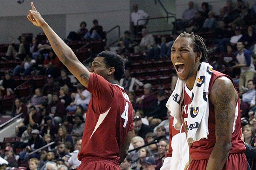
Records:
<instances>
[{"instance_id":1,"label":"dark dreadlocks on the shouting player's head","mask_svg":"<svg viewBox=\"0 0 256 170\"><path fill-rule=\"evenodd\" d=\"M200 62L207 62L207 55L208 50L206 48L206 45L204 44L204 39L200 37L199 35L194 34L193 32L191 34L186 33L185 31L183 33L180 33L179 37L189 37L191 38L192 42L194 43L194 52L202 53L202 57L200 59Z\"/></svg>"}]
</instances>

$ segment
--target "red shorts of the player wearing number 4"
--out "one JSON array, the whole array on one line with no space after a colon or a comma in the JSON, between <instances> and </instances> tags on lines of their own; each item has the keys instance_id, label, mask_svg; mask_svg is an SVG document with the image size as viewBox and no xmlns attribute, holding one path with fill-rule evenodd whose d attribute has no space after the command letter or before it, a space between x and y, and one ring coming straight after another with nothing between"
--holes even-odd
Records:
<instances>
[{"instance_id":1,"label":"red shorts of the player wearing number 4","mask_svg":"<svg viewBox=\"0 0 256 170\"><path fill-rule=\"evenodd\" d=\"M120 167L107 159L86 158L76 170L120 170Z\"/></svg>"}]
</instances>

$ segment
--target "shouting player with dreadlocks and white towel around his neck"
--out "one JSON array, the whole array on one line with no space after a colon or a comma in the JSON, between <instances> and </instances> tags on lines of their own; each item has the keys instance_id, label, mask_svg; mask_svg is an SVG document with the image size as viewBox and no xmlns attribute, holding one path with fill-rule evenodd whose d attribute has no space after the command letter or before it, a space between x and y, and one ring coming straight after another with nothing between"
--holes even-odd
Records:
<instances>
[{"instance_id":1,"label":"shouting player with dreadlocks and white towel around his neck","mask_svg":"<svg viewBox=\"0 0 256 170\"><path fill-rule=\"evenodd\" d=\"M177 157L184 160L188 153L183 152L184 139L177 136L185 132L189 170L247 170L238 91L229 76L207 63L207 54L204 39L193 33L181 33L172 45L179 79L166 104L175 118L169 130L169 166L184 167Z\"/></svg>"}]
</instances>

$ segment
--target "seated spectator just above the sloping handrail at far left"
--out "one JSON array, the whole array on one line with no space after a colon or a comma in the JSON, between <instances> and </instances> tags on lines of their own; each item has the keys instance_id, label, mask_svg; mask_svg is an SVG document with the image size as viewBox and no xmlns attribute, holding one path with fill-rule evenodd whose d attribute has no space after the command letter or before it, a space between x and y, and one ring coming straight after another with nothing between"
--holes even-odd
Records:
<instances>
[{"instance_id":1,"label":"seated spectator just above the sloping handrail at far left","mask_svg":"<svg viewBox=\"0 0 256 170\"><path fill-rule=\"evenodd\" d=\"M28 114L28 108L26 106L26 99L22 97L20 99L16 98L14 101L15 107L13 109L13 115L17 116L22 113L21 118L25 118Z\"/></svg>"}]
</instances>

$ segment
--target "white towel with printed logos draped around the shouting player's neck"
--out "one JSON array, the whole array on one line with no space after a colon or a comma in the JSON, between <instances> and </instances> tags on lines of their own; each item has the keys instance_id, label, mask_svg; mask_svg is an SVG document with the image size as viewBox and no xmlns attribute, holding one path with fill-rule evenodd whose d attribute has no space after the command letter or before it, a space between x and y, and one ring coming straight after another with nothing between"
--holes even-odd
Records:
<instances>
[{"instance_id":1,"label":"white towel with printed logos draped around the shouting player's neck","mask_svg":"<svg viewBox=\"0 0 256 170\"><path fill-rule=\"evenodd\" d=\"M212 66L207 62L201 62L197 72L197 79L192 89L193 99L190 104L190 112L187 119L188 142L192 143L200 139L207 138L209 101L209 82L212 77ZM171 115L177 119L175 129L180 130L182 125L181 104L184 99L185 82L178 79L175 90L172 92L166 107L171 111Z\"/></svg>"}]
</instances>

